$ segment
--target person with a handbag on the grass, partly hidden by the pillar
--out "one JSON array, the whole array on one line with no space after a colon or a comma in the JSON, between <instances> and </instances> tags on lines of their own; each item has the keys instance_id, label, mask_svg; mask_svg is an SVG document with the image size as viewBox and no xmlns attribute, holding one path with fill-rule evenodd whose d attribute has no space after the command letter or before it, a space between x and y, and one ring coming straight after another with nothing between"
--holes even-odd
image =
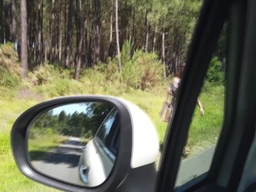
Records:
<instances>
[{"instance_id":1,"label":"person with a handbag on the grass, partly hidden by the pillar","mask_svg":"<svg viewBox=\"0 0 256 192\"><path fill-rule=\"evenodd\" d=\"M178 90L179 90L180 82L182 80L183 71L184 71L184 66L181 66L178 70L178 73L174 77L173 81L170 83L169 89L167 90L167 92L172 96L172 99L171 99L171 102L170 102L170 109L171 110L174 108L175 102L177 101ZM200 102L199 97L198 97L198 100L197 100L197 104L198 104L198 107L200 109L200 114L203 116L205 114L205 111L203 110L202 102ZM186 146L184 147L184 150L183 150L183 155L186 156L188 154L190 154L190 147L188 146L188 137L187 137Z\"/></svg>"}]
</instances>

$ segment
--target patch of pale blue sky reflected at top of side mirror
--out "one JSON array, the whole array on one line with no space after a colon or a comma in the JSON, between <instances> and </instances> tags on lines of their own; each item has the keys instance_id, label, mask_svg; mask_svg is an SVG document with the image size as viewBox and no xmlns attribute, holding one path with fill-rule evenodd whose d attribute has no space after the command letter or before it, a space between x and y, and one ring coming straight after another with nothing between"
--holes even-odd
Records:
<instances>
[{"instance_id":1,"label":"patch of pale blue sky reflected at top of side mirror","mask_svg":"<svg viewBox=\"0 0 256 192\"><path fill-rule=\"evenodd\" d=\"M74 112L77 112L78 114L83 113L86 114L86 103L75 103L75 104L69 104L64 106L58 106L54 108L53 114L60 114L62 110L65 111L66 114L74 114Z\"/></svg>"}]
</instances>

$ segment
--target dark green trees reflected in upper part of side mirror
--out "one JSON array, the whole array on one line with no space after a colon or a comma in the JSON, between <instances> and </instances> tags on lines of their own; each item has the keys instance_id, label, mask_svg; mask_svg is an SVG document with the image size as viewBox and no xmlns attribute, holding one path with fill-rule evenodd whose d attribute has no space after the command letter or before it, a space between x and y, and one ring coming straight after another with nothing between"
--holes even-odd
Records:
<instances>
[{"instance_id":1,"label":"dark green trees reflected in upper part of side mirror","mask_svg":"<svg viewBox=\"0 0 256 192\"><path fill-rule=\"evenodd\" d=\"M82 107L85 109L81 110ZM113 105L107 102L79 103L72 113L66 111L66 106L58 108L63 110L59 113L49 110L34 122L30 139L52 134L91 139Z\"/></svg>"}]
</instances>

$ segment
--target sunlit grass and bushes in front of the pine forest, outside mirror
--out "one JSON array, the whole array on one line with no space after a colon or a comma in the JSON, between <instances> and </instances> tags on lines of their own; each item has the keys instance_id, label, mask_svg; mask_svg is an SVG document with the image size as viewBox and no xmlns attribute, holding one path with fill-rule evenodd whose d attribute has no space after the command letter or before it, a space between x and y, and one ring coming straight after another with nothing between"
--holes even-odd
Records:
<instances>
[{"instance_id":1,"label":"sunlit grass and bushes in front of the pine forest, outside mirror","mask_svg":"<svg viewBox=\"0 0 256 192\"><path fill-rule=\"evenodd\" d=\"M166 122L159 116L166 89L170 83L162 79L162 65L155 54L142 51L130 56L129 43L122 49L123 72L118 72L116 58L82 70L79 81L74 80L74 69L45 64L30 71L26 80L20 78L20 63L13 46L0 46L0 191L54 191L25 178L18 171L10 150L10 130L14 121L30 106L46 99L75 94L110 94L134 102L149 114L158 130L160 143L164 142ZM214 60L214 67L219 63ZM211 68L211 69L212 69ZM208 75L201 94L205 115L195 109L190 127L190 146L213 145L221 130L224 107L222 75ZM210 81L218 79L219 83Z\"/></svg>"}]
</instances>

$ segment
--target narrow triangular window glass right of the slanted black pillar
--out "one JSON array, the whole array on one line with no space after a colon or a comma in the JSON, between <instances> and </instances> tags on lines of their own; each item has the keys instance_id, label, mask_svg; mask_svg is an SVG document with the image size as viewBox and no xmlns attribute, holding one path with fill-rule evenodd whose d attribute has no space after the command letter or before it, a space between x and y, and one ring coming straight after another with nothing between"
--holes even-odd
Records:
<instances>
[{"instance_id":1,"label":"narrow triangular window glass right of the slanted black pillar","mask_svg":"<svg viewBox=\"0 0 256 192\"><path fill-rule=\"evenodd\" d=\"M226 25L210 61L183 149L176 186L182 186L210 169L222 129L226 76Z\"/></svg>"}]
</instances>

